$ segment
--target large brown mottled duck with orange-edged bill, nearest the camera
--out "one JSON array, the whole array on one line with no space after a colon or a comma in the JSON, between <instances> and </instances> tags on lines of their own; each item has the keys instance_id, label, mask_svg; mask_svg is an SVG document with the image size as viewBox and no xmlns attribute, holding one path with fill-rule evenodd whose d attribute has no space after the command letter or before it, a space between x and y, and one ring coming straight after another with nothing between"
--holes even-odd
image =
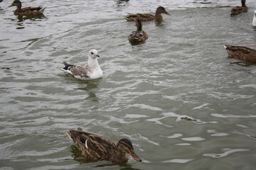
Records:
<instances>
[{"instance_id":1,"label":"large brown mottled duck with orange-edged bill, nearest the camera","mask_svg":"<svg viewBox=\"0 0 256 170\"><path fill-rule=\"evenodd\" d=\"M120 164L127 162L128 158L125 154L129 154L137 162L142 162L142 159L134 152L132 142L127 138L123 138L115 144L105 137L83 131L82 128L69 130L66 133L75 145L80 148L82 156L85 159L92 161L111 161Z\"/></svg>"}]
</instances>

